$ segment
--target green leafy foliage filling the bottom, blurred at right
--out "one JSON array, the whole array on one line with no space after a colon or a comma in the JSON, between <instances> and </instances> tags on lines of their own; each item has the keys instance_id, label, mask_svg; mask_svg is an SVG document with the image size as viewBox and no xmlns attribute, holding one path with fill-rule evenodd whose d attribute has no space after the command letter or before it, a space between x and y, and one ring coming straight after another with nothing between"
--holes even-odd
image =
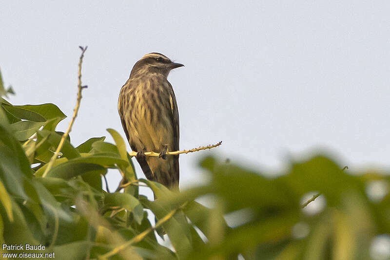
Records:
<instances>
[{"instance_id":1,"label":"green leafy foliage filling the bottom, blurred at right","mask_svg":"<svg viewBox=\"0 0 390 260\"><path fill-rule=\"evenodd\" d=\"M174 193L137 179L124 140L109 129L115 144L95 137L75 147L68 139L42 177L64 118L54 104L14 106L1 99L2 244L41 244L44 250L27 253L75 260L219 260L238 254L246 260L339 260L370 259L372 239L390 233L389 175L343 170L325 155L291 162L275 178L204 158L200 167L210 181ZM128 180L123 192L102 188L108 168ZM373 183L385 187L382 196L367 192ZM138 186L151 188L156 199L140 195ZM301 206L311 192L321 193L317 200L325 202L316 212ZM202 196L214 202L212 208L195 202ZM172 247L158 236L169 237Z\"/></svg>"}]
</instances>

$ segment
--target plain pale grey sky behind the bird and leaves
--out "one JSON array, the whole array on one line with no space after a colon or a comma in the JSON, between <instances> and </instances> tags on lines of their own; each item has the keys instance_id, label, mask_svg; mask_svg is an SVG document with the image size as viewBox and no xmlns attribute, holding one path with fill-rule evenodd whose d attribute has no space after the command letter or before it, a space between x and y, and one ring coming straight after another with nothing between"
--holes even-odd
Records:
<instances>
[{"instance_id":1,"label":"plain pale grey sky behind the bird and leaves","mask_svg":"<svg viewBox=\"0 0 390 260\"><path fill-rule=\"evenodd\" d=\"M117 98L141 56L185 64L168 77L180 148L223 144L180 156L181 188L203 180L197 162L209 153L267 172L313 150L389 167L389 13L389 1L2 1L0 68L11 103L50 102L70 117L88 45L78 146L112 142L107 128L125 136Z\"/></svg>"}]
</instances>

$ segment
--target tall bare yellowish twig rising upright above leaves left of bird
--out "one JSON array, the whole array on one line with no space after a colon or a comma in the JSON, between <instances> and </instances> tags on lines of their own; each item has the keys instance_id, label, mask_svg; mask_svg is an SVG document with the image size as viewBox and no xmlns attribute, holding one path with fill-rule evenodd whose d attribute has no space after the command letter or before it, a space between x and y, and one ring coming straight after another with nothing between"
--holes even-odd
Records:
<instances>
[{"instance_id":1,"label":"tall bare yellowish twig rising upright above leaves left of bird","mask_svg":"<svg viewBox=\"0 0 390 260\"><path fill-rule=\"evenodd\" d=\"M62 149L62 146L65 143L66 137L68 137L70 130L72 129L73 123L75 122L75 119L77 117L78 109L80 107L80 102L81 102L81 91L84 88L87 88L87 86L81 86L81 65L82 65L82 58L84 57L84 53L87 50L88 46L85 46L85 48L79 46L81 49L81 55L78 61L78 93L77 93L77 102L76 102L76 107L73 110L73 116L72 119L69 122L68 129L64 132L64 134L61 137L61 140L59 140L58 147L56 151L54 152L52 158L50 159L49 163L47 164L47 167L45 171L42 174L42 177L45 177L47 173L49 172L50 168L53 167L54 161L57 159L59 155L59 151Z\"/></svg>"}]
</instances>

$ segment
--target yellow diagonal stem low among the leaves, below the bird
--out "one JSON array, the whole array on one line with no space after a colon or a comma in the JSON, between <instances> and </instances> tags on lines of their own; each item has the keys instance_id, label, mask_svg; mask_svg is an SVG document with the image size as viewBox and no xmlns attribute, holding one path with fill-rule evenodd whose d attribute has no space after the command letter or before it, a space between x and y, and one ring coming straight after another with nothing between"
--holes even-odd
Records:
<instances>
[{"instance_id":1,"label":"yellow diagonal stem low among the leaves, below the bird","mask_svg":"<svg viewBox=\"0 0 390 260\"><path fill-rule=\"evenodd\" d=\"M149 235L150 232L156 230L158 227L160 227L163 223L167 222L168 220L170 220L174 215L175 213L183 208L184 206L186 206L186 202L183 203L181 206L179 206L178 208L175 208L174 210L170 211L167 215L165 215L162 219L160 219L159 221L156 222L156 225L154 227L149 227L148 229L146 229L145 231L139 233L137 236L135 236L134 238L132 238L131 240L115 247L114 249L112 249L111 251L107 252L106 254L104 255L101 255L98 257L98 259L108 259L109 257L112 257L114 256L115 254L119 253L119 251L123 250L123 249L126 249L127 247L131 246L132 244L135 244L139 241L142 241L147 235Z\"/></svg>"}]
</instances>

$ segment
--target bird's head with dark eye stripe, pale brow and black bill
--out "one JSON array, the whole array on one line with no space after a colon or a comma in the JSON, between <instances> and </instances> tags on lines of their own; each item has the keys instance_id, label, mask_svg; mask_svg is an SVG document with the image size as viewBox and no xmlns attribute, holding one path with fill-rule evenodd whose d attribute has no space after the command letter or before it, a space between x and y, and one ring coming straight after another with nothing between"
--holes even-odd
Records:
<instances>
[{"instance_id":1,"label":"bird's head with dark eye stripe, pale brow and black bill","mask_svg":"<svg viewBox=\"0 0 390 260\"><path fill-rule=\"evenodd\" d=\"M182 66L184 65L172 62L167 56L160 53L148 53L136 62L130 77L149 73L162 74L167 77L171 70Z\"/></svg>"}]
</instances>

